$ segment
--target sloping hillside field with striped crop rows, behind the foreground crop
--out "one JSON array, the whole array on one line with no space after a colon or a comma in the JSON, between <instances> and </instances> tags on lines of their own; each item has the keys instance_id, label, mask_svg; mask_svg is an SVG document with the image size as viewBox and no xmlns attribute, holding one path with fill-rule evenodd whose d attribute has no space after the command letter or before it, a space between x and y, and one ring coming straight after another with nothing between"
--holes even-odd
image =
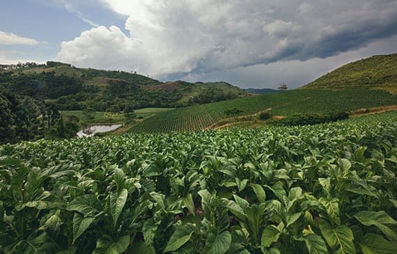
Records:
<instances>
[{"instance_id":1,"label":"sloping hillside field with striped crop rows, behind the foreground crop","mask_svg":"<svg viewBox=\"0 0 397 254\"><path fill-rule=\"evenodd\" d=\"M270 113L273 115L290 116L352 111L395 104L397 104L397 95L391 95L383 90L291 90L162 112L136 125L132 131L157 133L205 129L227 118L225 111L234 108L244 111L241 115L271 108Z\"/></svg>"}]
</instances>

